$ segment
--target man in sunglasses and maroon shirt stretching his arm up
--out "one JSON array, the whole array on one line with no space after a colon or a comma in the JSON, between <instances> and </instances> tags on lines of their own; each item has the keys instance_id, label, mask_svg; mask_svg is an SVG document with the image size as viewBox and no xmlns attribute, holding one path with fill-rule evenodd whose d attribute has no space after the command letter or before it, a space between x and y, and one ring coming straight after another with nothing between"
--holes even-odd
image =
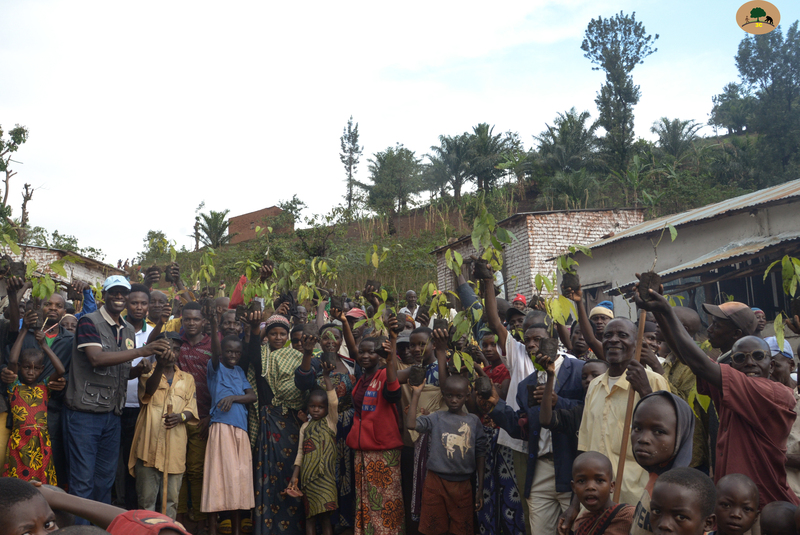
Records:
<instances>
[{"instance_id":1,"label":"man in sunglasses and maroon shirt stretching his arm up","mask_svg":"<svg viewBox=\"0 0 800 535\"><path fill-rule=\"evenodd\" d=\"M672 350L697 376L697 391L710 396L719 413L714 479L741 473L758 486L762 507L774 501L799 505L784 464L795 399L790 388L769 379L774 363L767 342L741 337L731 347L731 365L719 364L694 343L663 296L649 295L642 301L637 292L637 306L655 315Z\"/></svg>"}]
</instances>

